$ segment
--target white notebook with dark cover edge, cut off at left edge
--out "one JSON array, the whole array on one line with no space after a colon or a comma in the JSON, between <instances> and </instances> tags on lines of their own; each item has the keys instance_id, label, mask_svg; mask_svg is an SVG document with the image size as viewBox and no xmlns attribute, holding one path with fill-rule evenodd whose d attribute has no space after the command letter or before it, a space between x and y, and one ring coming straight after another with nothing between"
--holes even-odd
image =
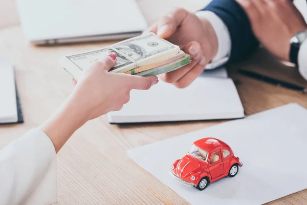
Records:
<instances>
[{"instance_id":1,"label":"white notebook with dark cover edge, cut off at left edge","mask_svg":"<svg viewBox=\"0 0 307 205\"><path fill-rule=\"evenodd\" d=\"M0 58L0 124L23 122L15 86L14 67Z\"/></svg>"}]
</instances>

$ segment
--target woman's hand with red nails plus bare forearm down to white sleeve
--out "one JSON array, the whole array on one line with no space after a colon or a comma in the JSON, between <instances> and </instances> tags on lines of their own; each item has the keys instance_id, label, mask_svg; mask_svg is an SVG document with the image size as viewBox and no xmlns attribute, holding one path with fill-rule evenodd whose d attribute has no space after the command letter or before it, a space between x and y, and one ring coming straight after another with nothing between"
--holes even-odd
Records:
<instances>
[{"instance_id":1,"label":"woman's hand with red nails plus bare forearm down to white sleeve","mask_svg":"<svg viewBox=\"0 0 307 205\"><path fill-rule=\"evenodd\" d=\"M41 126L52 140L56 153L86 121L109 111L120 110L129 101L132 89L147 90L158 83L157 76L134 76L108 72L116 64L116 54L95 61L84 70L76 88L60 110Z\"/></svg>"}]
</instances>

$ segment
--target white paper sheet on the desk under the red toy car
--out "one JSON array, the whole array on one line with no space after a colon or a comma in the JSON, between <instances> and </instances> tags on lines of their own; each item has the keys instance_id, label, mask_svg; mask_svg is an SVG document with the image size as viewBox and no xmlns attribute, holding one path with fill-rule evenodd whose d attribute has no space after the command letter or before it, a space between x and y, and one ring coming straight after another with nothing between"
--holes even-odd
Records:
<instances>
[{"instance_id":1,"label":"white paper sheet on the desk under the red toy car","mask_svg":"<svg viewBox=\"0 0 307 205\"><path fill-rule=\"evenodd\" d=\"M262 204L307 188L307 110L289 104L127 152L191 204ZM199 191L170 176L173 161L198 139L226 142L243 162L233 177Z\"/></svg>"}]
</instances>

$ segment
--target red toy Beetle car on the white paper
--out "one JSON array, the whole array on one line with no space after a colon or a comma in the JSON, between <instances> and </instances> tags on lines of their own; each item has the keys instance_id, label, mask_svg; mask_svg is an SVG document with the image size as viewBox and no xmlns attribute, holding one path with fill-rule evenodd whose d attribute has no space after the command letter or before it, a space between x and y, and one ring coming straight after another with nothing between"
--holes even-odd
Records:
<instances>
[{"instance_id":1,"label":"red toy Beetle car on the white paper","mask_svg":"<svg viewBox=\"0 0 307 205\"><path fill-rule=\"evenodd\" d=\"M213 181L234 177L242 165L225 142L203 138L195 141L188 153L173 163L170 173L184 185L204 190Z\"/></svg>"}]
</instances>

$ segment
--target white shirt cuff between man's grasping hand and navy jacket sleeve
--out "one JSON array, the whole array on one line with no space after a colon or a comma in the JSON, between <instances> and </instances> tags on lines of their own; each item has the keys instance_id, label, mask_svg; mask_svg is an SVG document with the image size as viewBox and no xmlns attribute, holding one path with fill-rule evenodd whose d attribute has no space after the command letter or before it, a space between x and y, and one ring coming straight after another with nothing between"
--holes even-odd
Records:
<instances>
[{"instance_id":1,"label":"white shirt cuff between man's grasping hand and navy jacket sleeve","mask_svg":"<svg viewBox=\"0 0 307 205\"><path fill-rule=\"evenodd\" d=\"M223 20L212 11L198 11L196 15L208 19L217 37L217 53L211 63L206 66L206 69L223 66L229 60L231 52L231 39L227 26Z\"/></svg>"}]
</instances>

